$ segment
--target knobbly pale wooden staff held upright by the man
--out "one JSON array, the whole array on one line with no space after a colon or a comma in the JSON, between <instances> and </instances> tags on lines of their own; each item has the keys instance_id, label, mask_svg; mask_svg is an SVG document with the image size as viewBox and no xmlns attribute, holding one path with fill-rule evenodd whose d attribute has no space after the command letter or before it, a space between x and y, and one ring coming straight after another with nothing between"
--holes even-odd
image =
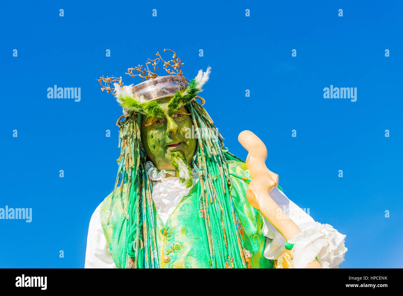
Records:
<instances>
[{"instance_id":1,"label":"knobbly pale wooden staff held upright by the man","mask_svg":"<svg viewBox=\"0 0 403 296\"><path fill-rule=\"evenodd\" d=\"M250 131L241 132L238 141L248 151L246 166L252 181L248 185L246 198L286 240L289 240L301 230L270 197L270 191L278 185L278 175L270 171L265 164L266 146ZM321 266L314 260L307 268L321 268Z\"/></svg>"}]
</instances>

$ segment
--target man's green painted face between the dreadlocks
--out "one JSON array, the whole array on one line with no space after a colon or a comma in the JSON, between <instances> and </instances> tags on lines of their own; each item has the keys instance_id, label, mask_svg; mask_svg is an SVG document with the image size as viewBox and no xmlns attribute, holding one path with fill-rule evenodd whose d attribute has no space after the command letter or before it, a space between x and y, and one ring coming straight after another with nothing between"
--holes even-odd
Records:
<instances>
[{"instance_id":1,"label":"man's green painted face between the dreadlocks","mask_svg":"<svg viewBox=\"0 0 403 296\"><path fill-rule=\"evenodd\" d=\"M172 115L168 115L170 99L171 97L168 97L157 101L165 117L147 118L143 115L141 125L141 140L145 152L160 171L175 170L170 162L171 153L174 151L182 150L187 164L190 164L197 144L197 139L185 137L188 128L192 129L193 125L188 111L182 107Z\"/></svg>"}]
</instances>

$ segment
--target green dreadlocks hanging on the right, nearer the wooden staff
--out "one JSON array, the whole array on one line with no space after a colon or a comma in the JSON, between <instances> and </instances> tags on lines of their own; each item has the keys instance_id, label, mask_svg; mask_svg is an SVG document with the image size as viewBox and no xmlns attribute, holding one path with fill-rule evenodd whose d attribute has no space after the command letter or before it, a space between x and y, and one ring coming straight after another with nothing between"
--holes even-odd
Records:
<instances>
[{"instance_id":1,"label":"green dreadlocks hanging on the right, nearer the wooden staff","mask_svg":"<svg viewBox=\"0 0 403 296\"><path fill-rule=\"evenodd\" d=\"M236 213L232 197L229 194L231 184L224 142L216 136L216 127L212 125L208 114L197 111L199 103L189 104L195 130L197 131L198 149L193 157L193 166L199 171L202 187L200 208L206 218L212 267L244 268L245 256L242 236L236 227ZM204 116L207 115L207 116Z\"/></svg>"}]
</instances>

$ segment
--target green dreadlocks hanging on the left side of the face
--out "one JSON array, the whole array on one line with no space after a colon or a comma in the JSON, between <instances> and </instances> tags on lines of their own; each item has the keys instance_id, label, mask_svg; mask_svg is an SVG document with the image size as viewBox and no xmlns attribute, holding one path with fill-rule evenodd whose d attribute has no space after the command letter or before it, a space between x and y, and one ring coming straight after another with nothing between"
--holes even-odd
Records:
<instances>
[{"instance_id":1,"label":"green dreadlocks hanging on the left side of the face","mask_svg":"<svg viewBox=\"0 0 403 296\"><path fill-rule=\"evenodd\" d=\"M159 261L157 259L154 212L151 199L152 187L145 170L147 156L140 149L140 124L141 116L132 114L126 117L119 129L119 146L120 143L122 145L118 159L119 169L115 181L115 190L121 178L120 191L123 192L123 182L125 182L127 197L125 207L123 207L127 209L127 217L123 220L123 224L127 224L123 266L126 268L158 268ZM113 200L110 210L112 208ZM123 224L120 226L120 231ZM118 239L121 236L120 233Z\"/></svg>"}]
</instances>

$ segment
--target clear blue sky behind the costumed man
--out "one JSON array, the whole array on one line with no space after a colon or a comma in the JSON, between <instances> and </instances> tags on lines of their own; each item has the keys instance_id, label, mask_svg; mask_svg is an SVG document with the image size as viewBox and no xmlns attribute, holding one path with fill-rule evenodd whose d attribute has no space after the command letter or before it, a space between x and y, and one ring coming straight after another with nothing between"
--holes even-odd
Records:
<instances>
[{"instance_id":1,"label":"clear blue sky behind the costumed man","mask_svg":"<svg viewBox=\"0 0 403 296\"><path fill-rule=\"evenodd\" d=\"M347 235L342 267L403 267L402 10L400 1L3 2L0 208L33 217L0 220L0 267L84 266L89 219L119 156L121 108L95 79L139 83L127 68L164 48L187 78L212 66L203 97L226 146L245 159L238 134L262 139L286 195ZM81 101L48 99L54 84L81 87ZM331 84L357 87L357 101L324 99Z\"/></svg>"}]
</instances>

